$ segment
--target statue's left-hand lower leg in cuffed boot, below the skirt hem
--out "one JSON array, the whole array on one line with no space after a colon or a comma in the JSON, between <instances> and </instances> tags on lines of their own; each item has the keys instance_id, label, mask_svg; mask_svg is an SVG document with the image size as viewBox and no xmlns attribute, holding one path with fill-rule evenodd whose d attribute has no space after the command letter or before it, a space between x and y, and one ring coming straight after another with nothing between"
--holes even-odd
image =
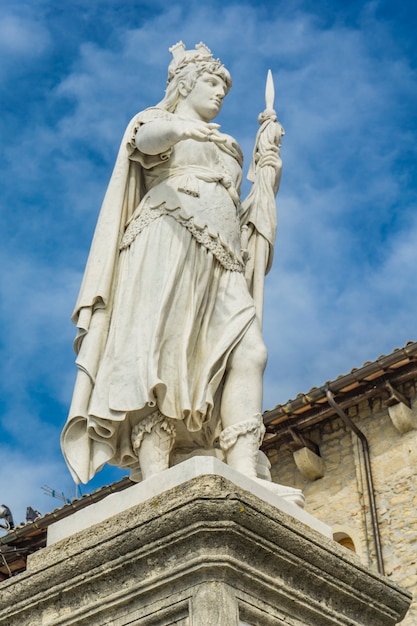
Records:
<instances>
[{"instance_id":1,"label":"statue's left-hand lower leg in cuffed boot, below the skirt hem","mask_svg":"<svg viewBox=\"0 0 417 626\"><path fill-rule=\"evenodd\" d=\"M132 429L132 446L138 455L142 477L168 469L169 456L175 442L175 420L158 410Z\"/></svg>"}]
</instances>

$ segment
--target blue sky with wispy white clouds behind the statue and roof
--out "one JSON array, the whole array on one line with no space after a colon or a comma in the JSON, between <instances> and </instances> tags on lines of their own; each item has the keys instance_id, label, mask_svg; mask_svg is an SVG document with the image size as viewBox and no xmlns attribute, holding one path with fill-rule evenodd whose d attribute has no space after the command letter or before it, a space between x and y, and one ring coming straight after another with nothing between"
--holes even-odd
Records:
<instances>
[{"instance_id":1,"label":"blue sky with wispy white clouds behind the statue and roof","mask_svg":"<svg viewBox=\"0 0 417 626\"><path fill-rule=\"evenodd\" d=\"M0 0L0 503L17 523L59 506L43 485L73 494L69 317L124 127L162 98L180 39L229 68L218 121L247 165L274 75L265 408L417 339L416 25L413 0Z\"/></svg>"}]
</instances>

